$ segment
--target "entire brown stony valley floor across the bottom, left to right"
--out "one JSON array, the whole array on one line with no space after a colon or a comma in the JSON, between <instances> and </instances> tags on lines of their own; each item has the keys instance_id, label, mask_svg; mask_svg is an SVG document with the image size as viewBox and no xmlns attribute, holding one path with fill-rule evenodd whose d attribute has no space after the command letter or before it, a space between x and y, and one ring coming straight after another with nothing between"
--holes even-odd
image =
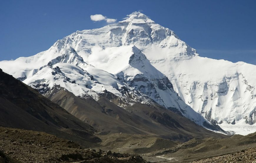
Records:
<instances>
[{"instance_id":1,"label":"entire brown stony valley floor across the bottom, left to right","mask_svg":"<svg viewBox=\"0 0 256 163\"><path fill-rule=\"evenodd\" d=\"M147 135L99 135L101 147L78 144L44 132L0 127L0 162L250 162L256 161L255 134L173 142ZM157 141L155 140L157 139ZM152 145L153 144L153 145ZM126 154L127 152L132 154ZM138 154L134 154L138 153ZM210 157L210 158L209 158Z\"/></svg>"}]
</instances>

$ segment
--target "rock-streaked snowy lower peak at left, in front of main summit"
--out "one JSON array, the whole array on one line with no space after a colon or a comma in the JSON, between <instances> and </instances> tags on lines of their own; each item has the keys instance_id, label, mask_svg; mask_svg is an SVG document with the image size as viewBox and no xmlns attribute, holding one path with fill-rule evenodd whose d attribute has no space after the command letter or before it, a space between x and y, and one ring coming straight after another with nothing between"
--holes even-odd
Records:
<instances>
[{"instance_id":1,"label":"rock-streaked snowy lower peak at left, in front of main summit","mask_svg":"<svg viewBox=\"0 0 256 163\"><path fill-rule=\"evenodd\" d=\"M66 48L64 54L60 54L37 70L23 82L39 90L43 95L58 85L80 98L92 97L98 100L99 94L107 91L122 100L129 101L127 105L137 101L149 104L153 102L145 95L133 92L133 88L121 82L117 76L85 63L71 47ZM130 98L122 93L123 89L134 97Z\"/></svg>"}]
</instances>

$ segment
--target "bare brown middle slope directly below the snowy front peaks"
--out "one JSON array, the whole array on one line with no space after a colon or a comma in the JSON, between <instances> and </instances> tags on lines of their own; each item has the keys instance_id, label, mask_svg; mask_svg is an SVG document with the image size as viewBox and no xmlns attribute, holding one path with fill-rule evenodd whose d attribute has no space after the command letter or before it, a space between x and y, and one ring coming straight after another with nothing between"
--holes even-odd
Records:
<instances>
[{"instance_id":1,"label":"bare brown middle slope directly below the snowy front peaks","mask_svg":"<svg viewBox=\"0 0 256 163\"><path fill-rule=\"evenodd\" d=\"M187 141L194 137L227 137L207 130L189 119L159 106L136 104L126 110L107 100L81 99L63 88L55 88L47 97L72 115L87 122L101 134L127 133L156 135Z\"/></svg>"}]
</instances>

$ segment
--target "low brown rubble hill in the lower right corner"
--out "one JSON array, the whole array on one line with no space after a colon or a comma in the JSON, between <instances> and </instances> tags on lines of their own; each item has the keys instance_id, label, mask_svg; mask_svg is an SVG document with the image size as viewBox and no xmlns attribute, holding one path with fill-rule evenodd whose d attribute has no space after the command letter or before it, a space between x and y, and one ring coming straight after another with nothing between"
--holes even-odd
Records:
<instances>
[{"instance_id":1,"label":"low brown rubble hill in the lower right corner","mask_svg":"<svg viewBox=\"0 0 256 163\"><path fill-rule=\"evenodd\" d=\"M157 162L167 161L167 162L191 162L199 159L206 159L209 157L216 157L225 154L232 154L235 152L243 151L245 149L255 147L256 146L256 132L242 136L242 135L233 135L228 138L217 138L210 137L205 139L192 139L183 144L176 145L171 148L161 149L158 151L154 151L147 156L144 156L145 159L151 162L151 160L155 160L157 156L163 156L166 158L173 158L170 161L166 159L158 159ZM239 154L240 155L240 154ZM232 157L233 155L229 155L230 158L223 158L222 162L247 162L238 160L237 157ZM245 156L246 157L246 156ZM249 160L256 160L256 155L251 155ZM220 157L221 158L221 157ZM215 159L206 159L199 162L220 162L220 158ZM241 158L242 159L242 158ZM244 158L245 159L245 158ZM175 161L177 160L177 161ZM246 159L245 159L246 160Z\"/></svg>"}]
</instances>

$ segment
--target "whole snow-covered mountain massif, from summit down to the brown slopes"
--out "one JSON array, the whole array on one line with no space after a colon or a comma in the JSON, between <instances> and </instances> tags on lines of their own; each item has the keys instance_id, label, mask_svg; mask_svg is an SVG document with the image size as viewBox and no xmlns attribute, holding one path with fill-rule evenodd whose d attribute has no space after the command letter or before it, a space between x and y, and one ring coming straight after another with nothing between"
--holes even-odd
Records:
<instances>
[{"instance_id":1,"label":"whole snow-covered mountain massif, from summit down to the brown slopes","mask_svg":"<svg viewBox=\"0 0 256 163\"><path fill-rule=\"evenodd\" d=\"M256 66L200 57L139 12L72 33L35 56L1 61L0 67L46 96L56 85L84 99L110 93L123 108L156 102L204 127L211 122L256 130Z\"/></svg>"}]
</instances>

